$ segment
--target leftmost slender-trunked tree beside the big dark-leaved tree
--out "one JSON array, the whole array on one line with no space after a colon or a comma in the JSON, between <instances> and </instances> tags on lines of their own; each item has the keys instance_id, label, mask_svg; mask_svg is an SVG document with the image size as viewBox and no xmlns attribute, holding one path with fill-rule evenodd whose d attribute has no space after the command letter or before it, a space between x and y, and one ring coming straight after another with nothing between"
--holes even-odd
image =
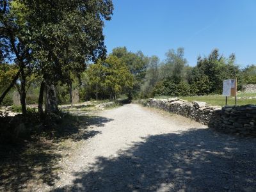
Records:
<instances>
[{"instance_id":1,"label":"leftmost slender-trunked tree beside the big dark-leaved tree","mask_svg":"<svg viewBox=\"0 0 256 192\"><path fill-rule=\"evenodd\" d=\"M26 115L26 76L31 74L31 38L29 38L26 14L28 10L20 1L1 1L0 11L0 42L1 60L7 59L15 63L19 70L13 76L10 85L2 93L0 104L6 93L20 80L20 103L22 114Z\"/></svg>"}]
</instances>

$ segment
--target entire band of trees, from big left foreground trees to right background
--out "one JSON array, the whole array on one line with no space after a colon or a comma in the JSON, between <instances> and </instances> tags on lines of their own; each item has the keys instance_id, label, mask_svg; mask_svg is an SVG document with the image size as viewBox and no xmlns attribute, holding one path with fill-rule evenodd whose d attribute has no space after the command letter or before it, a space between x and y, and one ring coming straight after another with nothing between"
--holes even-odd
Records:
<instances>
[{"instance_id":1,"label":"entire band of trees, from big left foreground trees to right background","mask_svg":"<svg viewBox=\"0 0 256 192\"><path fill-rule=\"evenodd\" d=\"M0 105L13 106L19 93L22 115L36 104L41 116L58 105L86 100L129 100L219 94L223 79L256 84L256 66L241 68L235 54L213 49L189 63L182 47L165 59L116 47L107 52L104 22L113 3L90 1L0 1ZM172 47L172 45L170 45ZM2 114L3 115L3 114Z\"/></svg>"}]
</instances>

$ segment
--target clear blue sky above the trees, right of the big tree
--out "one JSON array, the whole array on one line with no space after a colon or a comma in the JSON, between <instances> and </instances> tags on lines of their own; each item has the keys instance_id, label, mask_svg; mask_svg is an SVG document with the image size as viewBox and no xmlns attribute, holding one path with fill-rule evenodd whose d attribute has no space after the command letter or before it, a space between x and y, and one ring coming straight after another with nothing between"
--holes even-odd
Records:
<instances>
[{"instance_id":1,"label":"clear blue sky above the trees, right of the big tree","mask_svg":"<svg viewBox=\"0 0 256 192\"><path fill-rule=\"evenodd\" d=\"M168 49L184 47L191 66L212 49L236 54L236 63L256 64L255 0L113 0L104 35L108 52L126 46L164 60Z\"/></svg>"}]
</instances>

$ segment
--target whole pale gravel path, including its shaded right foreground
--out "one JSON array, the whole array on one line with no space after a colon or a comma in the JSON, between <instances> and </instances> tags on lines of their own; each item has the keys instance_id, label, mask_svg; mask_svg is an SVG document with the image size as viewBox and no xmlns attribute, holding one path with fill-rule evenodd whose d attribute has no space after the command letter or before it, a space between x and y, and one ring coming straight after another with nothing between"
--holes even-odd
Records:
<instances>
[{"instance_id":1,"label":"whole pale gravel path, including its shaded right foreground","mask_svg":"<svg viewBox=\"0 0 256 192\"><path fill-rule=\"evenodd\" d=\"M256 191L253 138L136 104L100 116L53 191Z\"/></svg>"}]
</instances>

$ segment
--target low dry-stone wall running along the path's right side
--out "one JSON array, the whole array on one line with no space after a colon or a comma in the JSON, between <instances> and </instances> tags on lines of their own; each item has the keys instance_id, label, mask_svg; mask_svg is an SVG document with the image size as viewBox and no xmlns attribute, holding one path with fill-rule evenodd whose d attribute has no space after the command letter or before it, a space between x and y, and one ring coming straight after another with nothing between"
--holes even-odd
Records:
<instances>
[{"instance_id":1,"label":"low dry-stone wall running along the path's right side","mask_svg":"<svg viewBox=\"0 0 256 192\"><path fill-rule=\"evenodd\" d=\"M140 103L186 116L221 132L256 136L256 106L253 105L221 108L177 98L140 100Z\"/></svg>"}]
</instances>

